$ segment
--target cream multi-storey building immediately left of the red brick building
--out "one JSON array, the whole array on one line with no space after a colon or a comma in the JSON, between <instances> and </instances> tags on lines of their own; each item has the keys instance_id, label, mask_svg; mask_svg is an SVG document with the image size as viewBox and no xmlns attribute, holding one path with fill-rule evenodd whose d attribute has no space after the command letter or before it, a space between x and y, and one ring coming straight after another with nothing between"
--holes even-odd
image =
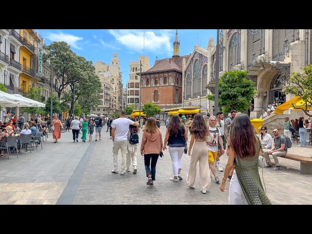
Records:
<instances>
[{"instance_id":1,"label":"cream multi-storey building immediately left of the red brick building","mask_svg":"<svg viewBox=\"0 0 312 234\"><path fill-rule=\"evenodd\" d=\"M151 68L148 57L139 56L138 61L130 61L129 79L127 80L127 105L129 106L134 104L136 109L138 109L139 103L140 76L137 75L137 73L140 72L140 62L142 66L142 72Z\"/></svg>"}]
</instances>

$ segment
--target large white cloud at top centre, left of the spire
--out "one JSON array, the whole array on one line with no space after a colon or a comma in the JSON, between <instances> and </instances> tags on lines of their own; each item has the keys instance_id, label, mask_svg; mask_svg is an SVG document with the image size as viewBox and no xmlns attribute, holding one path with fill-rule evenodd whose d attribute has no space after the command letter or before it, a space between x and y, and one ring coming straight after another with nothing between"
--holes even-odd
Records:
<instances>
[{"instance_id":1,"label":"large white cloud at top centre, left of the spire","mask_svg":"<svg viewBox=\"0 0 312 234\"><path fill-rule=\"evenodd\" d=\"M172 46L170 42L170 34L172 30L159 30L157 34L153 31L142 30L113 30L109 32L123 45L129 49L138 53L143 52L143 48L146 51L151 52L165 52L170 54L172 52Z\"/></svg>"}]
</instances>

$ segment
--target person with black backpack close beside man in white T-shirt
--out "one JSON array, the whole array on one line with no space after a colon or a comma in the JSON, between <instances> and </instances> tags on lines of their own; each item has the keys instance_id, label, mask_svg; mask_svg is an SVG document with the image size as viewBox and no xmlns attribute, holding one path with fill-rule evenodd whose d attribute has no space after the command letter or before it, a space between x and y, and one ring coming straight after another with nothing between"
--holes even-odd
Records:
<instances>
[{"instance_id":1,"label":"person with black backpack close beside man in white T-shirt","mask_svg":"<svg viewBox=\"0 0 312 234\"><path fill-rule=\"evenodd\" d=\"M130 117L130 120L136 121L134 117ZM129 132L128 132L128 141L130 139L130 136L132 134L138 134L139 128L135 125L129 125ZM137 173L137 144L130 144L128 142L128 152L127 152L127 160L126 160L126 170L127 172L130 172L130 159L132 159L132 165L133 165L133 173Z\"/></svg>"}]
</instances>

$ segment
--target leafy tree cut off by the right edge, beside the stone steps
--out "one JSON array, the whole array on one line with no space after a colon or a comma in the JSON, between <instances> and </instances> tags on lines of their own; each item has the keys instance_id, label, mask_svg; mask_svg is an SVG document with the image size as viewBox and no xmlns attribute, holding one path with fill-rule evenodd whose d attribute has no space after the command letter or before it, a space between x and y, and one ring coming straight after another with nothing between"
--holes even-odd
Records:
<instances>
[{"instance_id":1,"label":"leafy tree cut off by the right edge, beside the stone steps","mask_svg":"<svg viewBox=\"0 0 312 234\"><path fill-rule=\"evenodd\" d=\"M292 107L294 109L303 110L307 116L312 117L312 115L308 113L308 110L312 107L312 65L301 67L301 69L303 69L303 73L292 72L289 81L294 84L294 86L286 86L286 94L291 93L300 97L303 101L301 108L294 107L295 103L292 103Z\"/></svg>"}]
</instances>

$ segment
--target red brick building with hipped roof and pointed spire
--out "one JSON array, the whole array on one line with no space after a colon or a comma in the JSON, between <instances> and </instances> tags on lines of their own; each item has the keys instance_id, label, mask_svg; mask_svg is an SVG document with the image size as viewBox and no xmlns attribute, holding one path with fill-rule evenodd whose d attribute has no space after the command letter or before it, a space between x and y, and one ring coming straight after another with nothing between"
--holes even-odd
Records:
<instances>
[{"instance_id":1,"label":"red brick building with hipped roof and pointed spire","mask_svg":"<svg viewBox=\"0 0 312 234\"><path fill-rule=\"evenodd\" d=\"M172 58L156 59L152 68L141 73L142 105L151 102L162 109L182 103L182 70L190 55L180 57L179 44L176 31Z\"/></svg>"}]
</instances>

